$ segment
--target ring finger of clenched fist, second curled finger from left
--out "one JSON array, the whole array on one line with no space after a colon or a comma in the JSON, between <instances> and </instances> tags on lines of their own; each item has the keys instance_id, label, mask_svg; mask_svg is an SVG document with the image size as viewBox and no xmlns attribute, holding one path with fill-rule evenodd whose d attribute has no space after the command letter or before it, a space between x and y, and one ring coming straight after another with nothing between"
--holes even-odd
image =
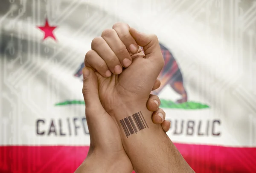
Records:
<instances>
[{"instance_id":1,"label":"ring finger of clenched fist, second curled finger from left","mask_svg":"<svg viewBox=\"0 0 256 173\"><path fill-rule=\"evenodd\" d=\"M109 70L113 74L122 73L122 65L120 64L116 54L109 47L108 43L102 37L96 37L92 41L92 49L96 51L100 57L106 62Z\"/></svg>"}]
</instances>

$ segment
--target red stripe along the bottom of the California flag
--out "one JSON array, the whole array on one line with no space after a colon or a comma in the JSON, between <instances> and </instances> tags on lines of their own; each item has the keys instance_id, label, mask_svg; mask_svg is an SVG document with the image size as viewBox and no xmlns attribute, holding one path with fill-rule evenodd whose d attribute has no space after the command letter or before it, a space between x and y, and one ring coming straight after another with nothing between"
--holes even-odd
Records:
<instances>
[{"instance_id":1,"label":"red stripe along the bottom of the California flag","mask_svg":"<svg viewBox=\"0 0 256 173\"><path fill-rule=\"evenodd\" d=\"M175 144L196 173L255 173L256 147ZM0 146L0 173L73 173L88 146Z\"/></svg>"}]
</instances>

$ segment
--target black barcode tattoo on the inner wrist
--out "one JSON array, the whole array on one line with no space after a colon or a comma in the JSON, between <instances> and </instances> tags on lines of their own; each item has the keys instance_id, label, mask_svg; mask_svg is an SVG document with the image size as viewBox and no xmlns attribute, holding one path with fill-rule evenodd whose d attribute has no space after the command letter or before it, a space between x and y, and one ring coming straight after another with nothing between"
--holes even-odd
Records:
<instances>
[{"instance_id":1,"label":"black barcode tattoo on the inner wrist","mask_svg":"<svg viewBox=\"0 0 256 173\"><path fill-rule=\"evenodd\" d=\"M138 130L143 130L144 128L148 128L148 124L144 119L143 114L140 112L134 113L131 116L128 116L124 119L120 120L120 123L122 125L122 128L125 132L126 137L128 138L128 136L137 133ZM136 124L136 125L135 125ZM137 130L137 128L138 130Z\"/></svg>"}]
</instances>

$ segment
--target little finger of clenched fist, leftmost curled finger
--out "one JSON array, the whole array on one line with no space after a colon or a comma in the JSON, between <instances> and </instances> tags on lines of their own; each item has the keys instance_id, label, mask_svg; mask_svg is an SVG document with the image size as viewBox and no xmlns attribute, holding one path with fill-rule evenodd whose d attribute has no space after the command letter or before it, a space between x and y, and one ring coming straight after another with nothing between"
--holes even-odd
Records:
<instances>
[{"instance_id":1,"label":"little finger of clenched fist, leftmost curled finger","mask_svg":"<svg viewBox=\"0 0 256 173\"><path fill-rule=\"evenodd\" d=\"M90 50L85 54L84 65L94 68L104 77L110 77L112 74L106 62L94 50Z\"/></svg>"}]
</instances>

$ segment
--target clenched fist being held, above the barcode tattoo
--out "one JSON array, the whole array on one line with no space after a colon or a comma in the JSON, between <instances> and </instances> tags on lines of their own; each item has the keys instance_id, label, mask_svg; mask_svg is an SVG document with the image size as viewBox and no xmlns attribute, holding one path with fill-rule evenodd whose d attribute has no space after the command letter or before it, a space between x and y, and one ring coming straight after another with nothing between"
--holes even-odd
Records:
<instances>
[{"instance_id":1,"label":"clenched fist being held, above the barcode tattoo","mask_svg":"<svg viewBox=\"0 0 256 173\"><path fill-rule=\"evenodd\" d=\"M164 65L157 36L142 34L124 23L115 24L92 41L85 65L90 67L97 61L100 65L93 68L97 71L99 98L111 115L120 106L145 105Z\"/></svg>"}]
</instances>

